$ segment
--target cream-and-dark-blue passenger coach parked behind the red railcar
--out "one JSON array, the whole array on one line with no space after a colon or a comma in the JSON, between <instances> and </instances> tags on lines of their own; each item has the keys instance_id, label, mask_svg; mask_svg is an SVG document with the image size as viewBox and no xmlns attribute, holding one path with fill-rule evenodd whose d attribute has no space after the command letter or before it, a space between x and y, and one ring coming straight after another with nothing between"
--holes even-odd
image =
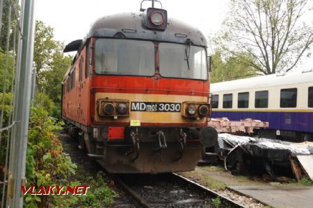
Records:
<instances>
[{"instance_id":1,"label":"cream-and-dark-blue passenger coach parked behind the red railcar","mask_svg":"<svg viewBox=\"0 0 313 208\"><path fill-rule=\"evenodd\" d=\"M313 70L211 85L212 116L269 122L261 137L313 141Z\"/></svg>"}]
</instances>

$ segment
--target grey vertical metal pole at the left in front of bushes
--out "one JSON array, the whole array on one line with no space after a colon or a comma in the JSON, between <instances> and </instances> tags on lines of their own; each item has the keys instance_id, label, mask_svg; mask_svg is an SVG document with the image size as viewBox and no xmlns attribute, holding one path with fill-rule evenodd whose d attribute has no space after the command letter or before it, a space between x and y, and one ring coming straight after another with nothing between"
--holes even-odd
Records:
<instances>
[{"instance_id":1,"label":"grey vertical metal pole at the left in front of bushes","mask_svg":"<svg viewBox=\"0 0 313 208\"><path fill-rule=\"evenodd\" d=\"M19 84L15 89L15 110L13 121L17 123L12 130L10 147L10 166L8 180L8 207L23 207L21 186L26 184L25 166L27 136L29 127L29 108L31 98L31 70L33 67L34 43L34 8L35 0L22 1L22 37L16 79Z\"/></svg>"}]
</instances>

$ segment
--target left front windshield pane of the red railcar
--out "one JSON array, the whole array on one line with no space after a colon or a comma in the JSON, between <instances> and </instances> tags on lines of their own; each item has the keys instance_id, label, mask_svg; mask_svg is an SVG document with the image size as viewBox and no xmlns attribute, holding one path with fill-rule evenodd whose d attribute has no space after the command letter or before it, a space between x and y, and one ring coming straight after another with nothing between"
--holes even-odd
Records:
<instances>
[{"instance_id":1,"label":"left front windshield pane of the red railcar","mask_svg":"<svg viewBox=\"0 0 313 208\"><path fill-rule=\"evenodd\" d=\"M96 73L153 76L154 66L153 42L120 39L95 42Z\"/></svg>"}]
</instances>

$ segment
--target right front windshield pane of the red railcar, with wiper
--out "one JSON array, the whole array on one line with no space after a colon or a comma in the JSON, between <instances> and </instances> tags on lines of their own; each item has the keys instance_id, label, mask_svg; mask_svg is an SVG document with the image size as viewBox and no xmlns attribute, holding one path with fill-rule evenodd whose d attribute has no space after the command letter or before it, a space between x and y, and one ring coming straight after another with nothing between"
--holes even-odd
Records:
<instances>
[{"instance_id":1,"label":"right front windshield pane of the red railcar, with wiper","mask_svg":"<svg viewBox=\"0 0 313 208\"><path fill-rule=\"evenodd\" d=\"M163 77L207 80L207 54L200 46L162 42L159 58Z\"/></svg>"}]
</instances>

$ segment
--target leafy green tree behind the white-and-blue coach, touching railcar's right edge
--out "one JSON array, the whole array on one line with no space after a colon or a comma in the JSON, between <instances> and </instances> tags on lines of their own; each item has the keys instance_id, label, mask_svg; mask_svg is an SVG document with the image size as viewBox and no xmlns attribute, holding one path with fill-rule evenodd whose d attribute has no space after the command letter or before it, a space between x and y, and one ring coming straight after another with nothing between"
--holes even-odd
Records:
<instances>
[{"instance_id":1,"label":"leafy green tree behind the white-and-blue coach, touching railcar's right edge","mask_svg":"<svg viewBox=\"0 0 313 208\"><path fill-rule=\"evenodd\" d=\"M223 60L219 51L216 51L212 58L212 72L210 73L211 83L218 83L227 80L236 80L256 76L257 71L250 66L246 66L243 62L251 60L246 55L241 54L238 57L228 57Z\"/></svg>"}]
</instances>

